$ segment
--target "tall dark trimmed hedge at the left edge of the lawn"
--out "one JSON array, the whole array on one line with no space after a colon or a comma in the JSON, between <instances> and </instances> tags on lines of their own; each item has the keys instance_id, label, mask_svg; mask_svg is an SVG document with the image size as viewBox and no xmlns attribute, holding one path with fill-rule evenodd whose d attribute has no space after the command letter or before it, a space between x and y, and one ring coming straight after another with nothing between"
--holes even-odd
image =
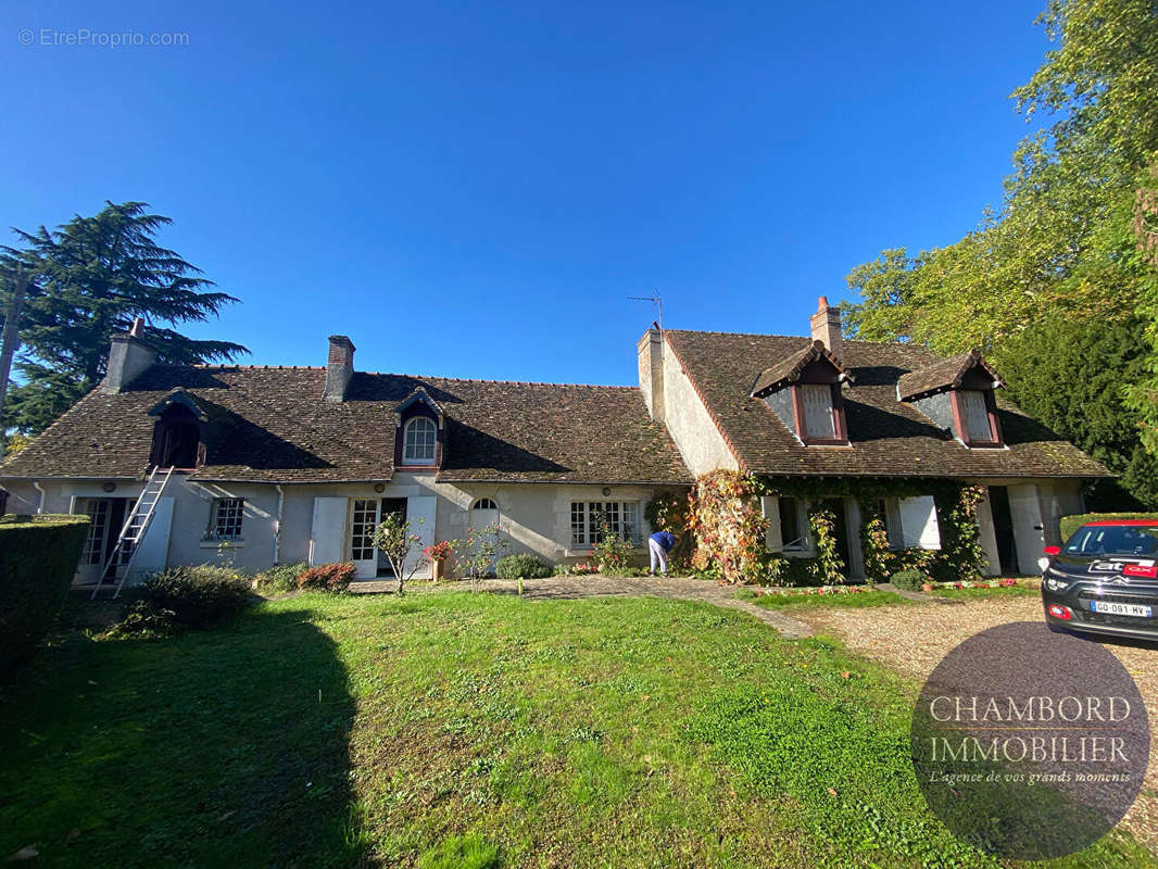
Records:
<instances>
[{"instance_id":1,"label":"tall dark trimmed hedge at the left edge of the lawn","mask_svg":"<svg viewBox=\"0 0 1158 869\"><path fill-rule=\"evenodd\" d=\"M88 523L87 516L0 517L0 666L28 658L52 629Z\"/></svg>"}]
</instances>

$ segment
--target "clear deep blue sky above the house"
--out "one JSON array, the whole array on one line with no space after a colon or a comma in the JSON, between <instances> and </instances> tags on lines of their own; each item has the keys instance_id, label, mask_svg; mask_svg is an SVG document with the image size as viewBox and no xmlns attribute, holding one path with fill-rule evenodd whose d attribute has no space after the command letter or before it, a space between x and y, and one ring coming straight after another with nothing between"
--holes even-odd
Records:
<instances>
[{"instance_id":1,"label":"clear deep blue sky above the house","mask_svg":"<svg viewBox=\"0 0 1158 869\"><path fill-rule=\"evenodd\" d=\"M8 0L0 225L151 203L251 364L629 384L629 295L804 334L973 227L1042 6ZM188 44L67 44L125 32Z\"/></svg>"}]
</instances>

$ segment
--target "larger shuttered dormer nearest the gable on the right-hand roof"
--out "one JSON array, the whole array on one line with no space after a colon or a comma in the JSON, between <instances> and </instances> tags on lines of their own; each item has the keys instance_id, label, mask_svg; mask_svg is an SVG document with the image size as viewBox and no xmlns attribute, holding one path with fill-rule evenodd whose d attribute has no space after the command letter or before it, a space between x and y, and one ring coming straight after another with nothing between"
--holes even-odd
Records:
<instances>
[{"instance_id":1,"label":"larger shuttered dormer nearest the gable on the right-hand roof","mask_svg":"<svg viewBox=\"0 0 1158 869\"><path fill-rule=\"evenodd\" d=\"M761 372L752 396L763 399L805 446L848 446L841 385L850 379L816 341Z\"/></svg>"}]
</instances>

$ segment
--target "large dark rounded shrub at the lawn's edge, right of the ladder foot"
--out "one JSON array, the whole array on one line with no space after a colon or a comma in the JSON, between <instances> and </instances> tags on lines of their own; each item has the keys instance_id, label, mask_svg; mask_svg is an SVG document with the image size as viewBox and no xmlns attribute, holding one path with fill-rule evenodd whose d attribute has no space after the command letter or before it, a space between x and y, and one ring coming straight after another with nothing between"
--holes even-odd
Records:
<instances>
[{"instance_id":1,"label":"large dark rounded shrub at the lawn's edge, right of the ladder foot","mask_svg":"<svg viewBox=\"0 0 1158 869\"><path fill-rule=\"evenodd\" d=\"M163 570L141 583L137 598L126 622L141 621L149 630L159 630L166 620L175 627L205 629L254 603L245 577L212 564ZM122 623L122 629L132 628Z\"/></svg>"}]
</instances>

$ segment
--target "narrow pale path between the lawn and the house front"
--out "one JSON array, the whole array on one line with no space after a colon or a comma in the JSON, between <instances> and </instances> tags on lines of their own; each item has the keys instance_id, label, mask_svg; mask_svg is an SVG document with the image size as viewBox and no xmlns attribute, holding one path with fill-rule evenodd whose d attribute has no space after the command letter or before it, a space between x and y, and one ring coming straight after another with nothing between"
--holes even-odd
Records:
<instances>
[{"instance_id":1,"label":"narrow pale path between the lawn and the house front","mask_svg":"<svg viewBox=\"0 0 1158 869\"><path fill-rule=\"evenodd\" d=\"M467 583L461 584L469 587ZM353 592L393 591L394 580L358 582L350 586ZM416 583L408 590L445 589ZM497 594L518 594L516 579L486 579L483 590ZM574 600L577 598L672 598L674 600L702 600L730 609L739 609L765 625L770 625L786 640L811 636L812 630L802 622L784 613L772 612L735 599L734 585L717 585L708 579L682 577L621 577L621 576L551 576L545 579L523 579L522 596L528 600Z\"/></svg>"}]
</instances>

